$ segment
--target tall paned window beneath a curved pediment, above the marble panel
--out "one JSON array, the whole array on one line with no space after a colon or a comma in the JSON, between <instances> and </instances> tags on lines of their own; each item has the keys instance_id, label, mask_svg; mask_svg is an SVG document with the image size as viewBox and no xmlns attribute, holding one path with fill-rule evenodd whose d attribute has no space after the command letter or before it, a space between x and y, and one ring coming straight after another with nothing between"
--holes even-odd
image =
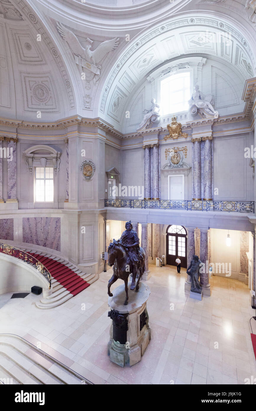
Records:
<instances>
[{"instance_id":1,"label":"tall paned window beneath a curved pediment, above the marble panel","mask_svg":"<svg viewBox=\"0 0 256 411\"><path fill-rule=\"evenodd\" d=\"M53 201L53 167L35 167L35 201Z\"/></svg>"}]
</instances>

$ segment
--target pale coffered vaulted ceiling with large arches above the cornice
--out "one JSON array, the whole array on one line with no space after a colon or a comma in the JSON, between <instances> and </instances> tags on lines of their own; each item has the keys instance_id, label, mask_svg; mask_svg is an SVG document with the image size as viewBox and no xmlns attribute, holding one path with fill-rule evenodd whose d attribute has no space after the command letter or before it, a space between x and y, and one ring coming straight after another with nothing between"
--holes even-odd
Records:
<instances>
[{"instance_id":1,"label":"pale coffered vaulted ceiling with large arches above the cornice","mask_svg":"<svg viewBox=\"0 0 256 411\"><path fill-rule=\"evenodd\" d=\"M135 93L161 67L194 56L228 67L229 83L255 75L246 0L109 2L0 0L0 117L99 116L123 131Z\"/></svg>"}]
</instances>

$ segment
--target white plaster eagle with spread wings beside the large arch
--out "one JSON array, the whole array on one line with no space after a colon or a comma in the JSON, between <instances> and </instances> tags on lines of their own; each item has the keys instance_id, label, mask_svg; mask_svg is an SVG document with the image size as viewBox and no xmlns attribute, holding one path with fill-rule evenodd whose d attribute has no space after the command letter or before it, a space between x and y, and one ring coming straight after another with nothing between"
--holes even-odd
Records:
<instances>
[{"instance_id":1,"label":"white plaster eagle with spread wings beside the large arch","mask_svg":"<svg viewBox=\"0 0 256 411\"><path fill-rule=\"evenodd\" d=\"M90 48L92 47L91 44L93 43L92 40L86 39L88 43L85 48L81 46L79 43L76 35L74 35L71 30L67 29L62 23L57 22L57 28L60 35L63 37L64 40L68 43L71 51L74 55L74 60L76 64L79 66L79 69L83 67L82 71L85 71L85 77L88 81L93 79L93 82L96 83L100 77L100 69L101 66L99 62L108 54L111 50L115 50L118 46L118 38L115 37L112 40L106 40L105 42L101 43L95 50L91 51ZM86 76L86 72L90 73L90 76ZM88 86L88 88L90 88Z\"/></svg>"}]
</instances>

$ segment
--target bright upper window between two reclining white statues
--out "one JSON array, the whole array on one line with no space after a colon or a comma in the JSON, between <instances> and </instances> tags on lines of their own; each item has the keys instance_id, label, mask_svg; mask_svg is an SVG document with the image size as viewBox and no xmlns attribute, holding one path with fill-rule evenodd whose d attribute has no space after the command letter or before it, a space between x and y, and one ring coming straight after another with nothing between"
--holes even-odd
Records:
<instances>
[{"instance_id":1,"label":"bright upper window between two reclining white statues","mask_svg":"<svg viewBox=\"0 0 256 411\"><path fill-rule=\"evenodd\" d=\"M162 115L189 109L190 72L180 72L161 80L160 88Z\"/></svg>"}]
</instances>

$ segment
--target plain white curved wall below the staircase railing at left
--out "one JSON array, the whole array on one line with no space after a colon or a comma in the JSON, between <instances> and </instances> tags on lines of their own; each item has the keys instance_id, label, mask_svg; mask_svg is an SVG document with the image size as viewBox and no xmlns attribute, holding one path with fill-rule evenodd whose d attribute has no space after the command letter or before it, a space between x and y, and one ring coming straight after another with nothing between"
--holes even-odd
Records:
<instances>
[{"instance_id":1,"label":"plain white curved wall below the staircase railing at left","mask_svg":"<svg viewBox=\"0 0 256 411\"><path fill-rule=\"evenodd\" d=\"M12 257L9 257L12 258ZM31 292L36 285L46 288L45 281L33 274L35 268L25 266L25 263L12 263L5 256L0 255L0 294L16 291Z\"/></svg>"}]
</instances>

